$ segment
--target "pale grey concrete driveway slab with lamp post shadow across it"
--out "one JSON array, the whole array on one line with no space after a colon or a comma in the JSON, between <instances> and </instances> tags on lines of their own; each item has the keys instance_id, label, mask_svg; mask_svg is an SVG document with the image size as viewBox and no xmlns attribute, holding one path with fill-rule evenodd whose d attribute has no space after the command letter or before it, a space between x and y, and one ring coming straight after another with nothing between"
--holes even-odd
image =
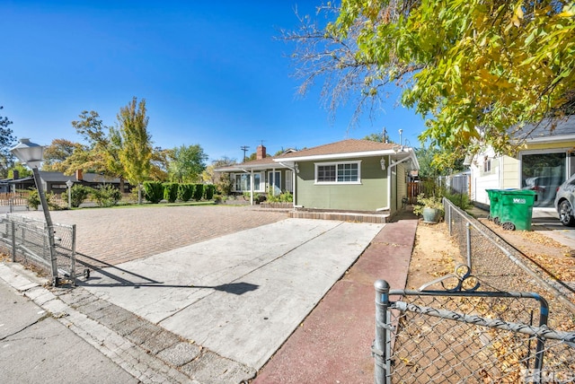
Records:
<instances>
[{"instance_id":1,"label":"pale grey concrete driveway slab with lamp post shadow across it","mask_svg":"<svg viewBox=\"0 0 575 384\"><path fill-rule=\"evenodd\" d=\"M83 285L259 370L382 227L286 219L107 267Z\"/></svg>"}]
</instances>

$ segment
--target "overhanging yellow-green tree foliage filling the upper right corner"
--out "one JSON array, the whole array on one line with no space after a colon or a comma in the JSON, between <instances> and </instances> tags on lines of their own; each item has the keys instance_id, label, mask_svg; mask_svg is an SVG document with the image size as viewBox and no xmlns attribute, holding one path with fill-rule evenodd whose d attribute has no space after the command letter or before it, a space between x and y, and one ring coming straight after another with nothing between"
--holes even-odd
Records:
<instances>
[{"instance_id":1,"label":"overhanging yellow-green tree foliage filling the upper right corner","mask_svg":"<svg viewBox=\"0 0 575 384\"><path fill-rule=\"evenodd\" d=\"M443 154L483 144L513 153L514 130L573 112L572 1L342 0L323 9L337 19L284 34L298 44L301 90L325 78L332 108L352 94L361 111L399 85L403 105L428 118L420 141Z\"/></svg>"}]
</instances>

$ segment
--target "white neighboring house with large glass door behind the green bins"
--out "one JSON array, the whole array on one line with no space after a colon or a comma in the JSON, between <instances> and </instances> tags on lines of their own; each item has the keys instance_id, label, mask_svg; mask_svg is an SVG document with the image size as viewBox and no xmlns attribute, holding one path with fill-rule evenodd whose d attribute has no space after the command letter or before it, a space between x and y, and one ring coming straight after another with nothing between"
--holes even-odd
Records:
<instances>
[{"instance_id":1,"label":"white neighboring house with large glass door behind the green bins","mask_svg":"<svg viewBox=\"0 0 575 384\"><path fill-rule=\"evenodd\" d=\"M517 158L498 155L492 149L475 155L470 166L471 199L489 205L486 189L535 190L535 208L553 208L557 188L575 173L575 116L537 127L526 126L517 137L525 147Z\"/></svg>"}]
</instances>

